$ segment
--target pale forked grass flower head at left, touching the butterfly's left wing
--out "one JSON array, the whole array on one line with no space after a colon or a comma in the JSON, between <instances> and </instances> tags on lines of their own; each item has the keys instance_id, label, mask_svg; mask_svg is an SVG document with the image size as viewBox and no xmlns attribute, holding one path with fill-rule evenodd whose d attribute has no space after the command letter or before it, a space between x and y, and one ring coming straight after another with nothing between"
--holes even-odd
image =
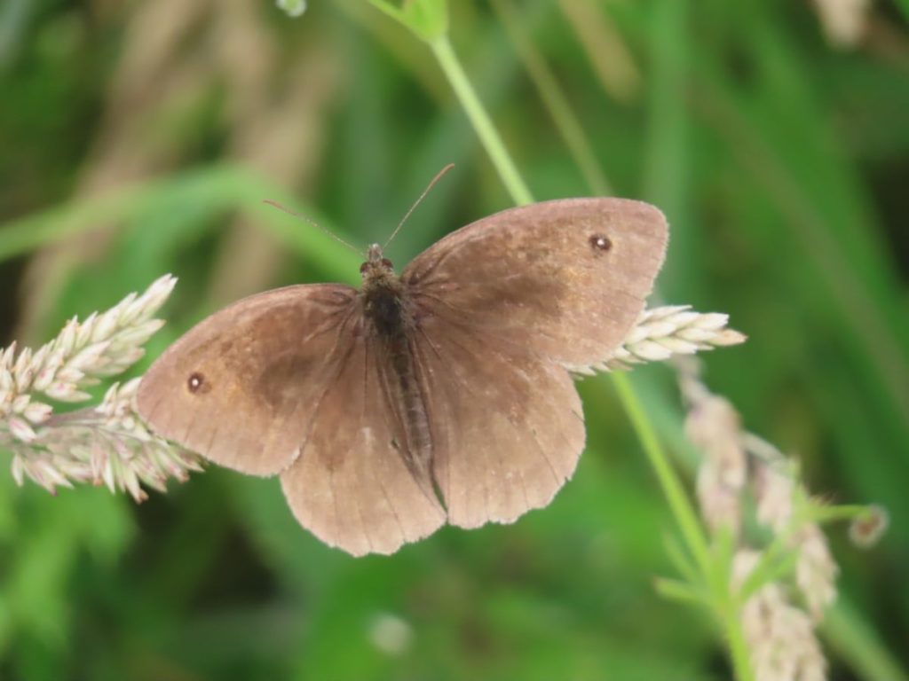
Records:
<instances>
[{"instance_id":1,"label":"pale forked grass flower head at left, touching the butterfly's left wing","mask_svg":"<svg viewBox=\"0 0 909 681\"><path fill-rule=\"evenodd\" d=\"M73 482L105 484L141 501L142 484L163 491L168 478L185 480L200 469L195 455L155 437L136 417L138 379L113 384L94 408L55 413L44 401L90 400L85 389L139 360L164 323L153 317L175 283L161 277L102 314L67 322L38 350L16 353L14 343L0 354L0 446L13 452L18 484L30 478L50 492Z\"/></svg>"}]
</instances>

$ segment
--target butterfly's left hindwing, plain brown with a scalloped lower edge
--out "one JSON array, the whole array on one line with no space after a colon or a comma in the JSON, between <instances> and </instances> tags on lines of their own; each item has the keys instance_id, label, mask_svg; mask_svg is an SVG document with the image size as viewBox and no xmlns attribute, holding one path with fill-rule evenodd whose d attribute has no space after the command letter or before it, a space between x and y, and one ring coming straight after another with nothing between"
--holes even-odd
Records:
<instances>
[{"instance_id":1,"label":"butterfly's left hindwing, plain brown with a scalloped lower edge","mask_svg":"<svg viewBox=\"0 0 909 681\"><path fill-rule=\"evenodd\" d=\"M383 390L389 370L375 339L357 337L319 400L299 458L281 475L300 524L355 556L393 553L445 522L430 480L405 463L400 408Z\"/></svg>"}]
</instances>

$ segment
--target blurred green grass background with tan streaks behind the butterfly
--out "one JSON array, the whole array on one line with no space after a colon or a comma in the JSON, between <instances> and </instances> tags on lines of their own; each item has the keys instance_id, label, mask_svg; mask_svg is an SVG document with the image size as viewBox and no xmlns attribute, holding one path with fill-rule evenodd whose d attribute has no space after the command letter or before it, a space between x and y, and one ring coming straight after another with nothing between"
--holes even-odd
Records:
<instances>
[{"instance_id":1,"label":"blurred green grass background with tan streaks behind the butterfly","mask_svg":"<svg viewBox=\"0 0 909 681\"><path fill-rule=\"evenodd\" d=\"M247 293L358 281L355 255L263 199L364 246L456 163L390 248L399 266L509 205L425 45L362 0L309 5L0 2L3 344L166 271L180 283L150 358ZM830 530L824 647L834 679L873 678L856 650L905 664L909 4L453 5L455 49L535 196L659 205L662 299L750 336L705 357L709 385L815 493L888 508L870 551ZM579 171L506 25L549 64L599 171ZM633 378L690 473L671 371ZM707 618L654 593L672 519L609 381L581 390L588 447L550 508L391 558L322 546L276 480L209 469L135 506L0 475L0 679L729 678Z\"/></svg>"}]
</instances>

